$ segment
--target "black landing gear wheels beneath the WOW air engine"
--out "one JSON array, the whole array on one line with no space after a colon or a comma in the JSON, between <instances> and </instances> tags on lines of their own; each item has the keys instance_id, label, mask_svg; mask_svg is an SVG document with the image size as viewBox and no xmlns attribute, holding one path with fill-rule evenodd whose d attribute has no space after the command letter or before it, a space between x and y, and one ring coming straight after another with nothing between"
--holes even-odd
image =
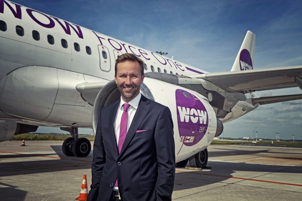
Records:
<instances>
[{"instance_id":1,"label":"black landing gear wheels beneath the WOW air engine","mask_svg":"<svg viewBox=\"0 0 302 201\"><path fill-rule=\"evenodd\" d=\"M189 161L189 165L191 167L201 167L205 168L208 160L208 152L207 149L198 152L197 154L187 158L183 161L176 163L176 167L185 167Z\"/></svg>"}]
</instances>

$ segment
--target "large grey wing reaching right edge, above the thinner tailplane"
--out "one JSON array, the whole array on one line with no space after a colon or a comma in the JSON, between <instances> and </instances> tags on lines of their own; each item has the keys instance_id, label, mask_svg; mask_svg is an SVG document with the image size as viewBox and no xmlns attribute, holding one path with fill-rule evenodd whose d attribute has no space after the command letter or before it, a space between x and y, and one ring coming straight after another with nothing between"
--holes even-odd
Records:
<instances>
[{"instance_id":1,"label":"large grey wing reaching right edge, above the thinner tailplane","mask_svg":"<svg viewBox=\"0 0 302 201\"><path fill-rule=\"evenodd\" d=\"M299 86L302 89L302 66L206 73L205 79L228 92L252 92Z\"/></svg>"}]
</instances>

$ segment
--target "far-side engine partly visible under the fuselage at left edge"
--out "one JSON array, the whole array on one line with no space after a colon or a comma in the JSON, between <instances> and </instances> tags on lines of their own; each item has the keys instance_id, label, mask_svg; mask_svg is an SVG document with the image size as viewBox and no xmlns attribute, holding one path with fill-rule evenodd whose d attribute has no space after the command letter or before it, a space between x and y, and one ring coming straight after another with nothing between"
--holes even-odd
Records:
<instances>
[{"instance_id":1,"label":"far-side engine partly visible under the fuselage at left edge","mask_svg":"<svg viewBox=\"0 0 302 201\"><path fill-rule=\"evenodd\" d=\"M37 129L38 126L0 120L0 142L8 141L12 139L14 135L35 132Z\"/></svg>"}]
</instances>

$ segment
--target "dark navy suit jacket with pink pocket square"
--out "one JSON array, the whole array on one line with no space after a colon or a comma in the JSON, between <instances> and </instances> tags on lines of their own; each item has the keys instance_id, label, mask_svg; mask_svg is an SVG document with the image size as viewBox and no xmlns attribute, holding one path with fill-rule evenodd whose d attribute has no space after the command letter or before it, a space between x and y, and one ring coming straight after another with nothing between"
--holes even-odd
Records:
<instances>
[{"instance_id":1,"label":"dark navy suit jacket with pink pocket square","mask_svg":"<svg viewBox=\"0 0 302 201\"><path fill-rule=\"evenodd\" d=\"M171 200L175 144L169 108L142 95L119 154L113 128L119 103L100 111L88 201L108 201L116 178L123 201Z\"/></svg>"}]
</instances>

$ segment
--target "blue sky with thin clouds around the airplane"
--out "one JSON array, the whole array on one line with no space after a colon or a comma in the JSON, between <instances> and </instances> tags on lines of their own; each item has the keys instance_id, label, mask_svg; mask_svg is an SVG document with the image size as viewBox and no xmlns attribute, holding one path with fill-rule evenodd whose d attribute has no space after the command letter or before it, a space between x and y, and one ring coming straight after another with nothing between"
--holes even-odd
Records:
<instances>
[{"instance_id":1,"label":"blue sky with thin clouds around the airplane","mask_svg":"<svg viewBox=\"0 0 302 201\"><path fill-rule=\"evenodd\" d=\"M256 34L254 69L302 65L300 1L15 0L208 72L230 71L248 30ZM299 88L259 96L300 94ZM302 140L302 100L260 106L224 124L220 137ZM41 127L38 132L62 132ZM79 133L91 134L90 129ZM255 136L256 137L256 136Z\"/></svg>"}]
</instances>

